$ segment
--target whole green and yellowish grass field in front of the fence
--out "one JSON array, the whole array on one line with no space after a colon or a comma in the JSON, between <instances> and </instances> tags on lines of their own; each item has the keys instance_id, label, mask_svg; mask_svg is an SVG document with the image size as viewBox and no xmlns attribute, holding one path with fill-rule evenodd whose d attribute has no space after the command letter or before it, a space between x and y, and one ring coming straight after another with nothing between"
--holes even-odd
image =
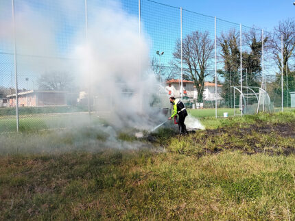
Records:
<instances>
[{"instance_id":1,"label":"whole green and yellowish grass field in front of the fence","mask_svg":"<svg viewBox=\"0 0 295 221\"><path fill-rule=\"evenodd\" d=\"M294 220L295 112L0 135L0 220Z\"/></svg>"}]
</instances>

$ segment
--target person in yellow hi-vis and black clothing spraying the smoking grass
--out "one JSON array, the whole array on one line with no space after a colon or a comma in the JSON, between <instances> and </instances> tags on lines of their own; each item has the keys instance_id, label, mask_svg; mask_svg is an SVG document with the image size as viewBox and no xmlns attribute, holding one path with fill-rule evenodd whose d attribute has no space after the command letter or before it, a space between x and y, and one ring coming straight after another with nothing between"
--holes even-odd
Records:
<instances>
[{"instance_id":1,"label":"person in yellow hi-vis and black clothing spraying the smoking grass","mask_svg":"<svg viewBox=\"0 0 295 221\"><path fill-rule=\"evenodd\" d=\"M187 128L185 127L187 109L185 109L185 105L179 99L175 99L174 96L170 96L169 100L173 105L173 113L172 116L168 118L168 120L171 120L174 116L178 116L179 133L180 135L187 134Z\"/></svg>"}]
</instances>

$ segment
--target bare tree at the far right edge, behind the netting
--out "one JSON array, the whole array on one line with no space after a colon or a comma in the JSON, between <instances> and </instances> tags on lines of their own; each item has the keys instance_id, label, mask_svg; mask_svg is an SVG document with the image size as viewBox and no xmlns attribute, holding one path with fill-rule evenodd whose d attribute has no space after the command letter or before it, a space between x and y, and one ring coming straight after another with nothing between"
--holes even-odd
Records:
<instances>
[{"instance_id":1,"label":"bare tree at the far right edge, behind the netting","mask_svg":"<svg viewBox=\"0 0 295 221\"><path fill-rule=\"evenodd\" d=\"M280 21L279 25L274 27L274 34L270 40L270 47L274 60L281 70L281 36L283 36L283 73L289 70L290 60L295 59L295 21L288 18ZM292 64L291 64L292 65ZM294 65L294 64L293 64Z\"/></svg>"}]
</instances>

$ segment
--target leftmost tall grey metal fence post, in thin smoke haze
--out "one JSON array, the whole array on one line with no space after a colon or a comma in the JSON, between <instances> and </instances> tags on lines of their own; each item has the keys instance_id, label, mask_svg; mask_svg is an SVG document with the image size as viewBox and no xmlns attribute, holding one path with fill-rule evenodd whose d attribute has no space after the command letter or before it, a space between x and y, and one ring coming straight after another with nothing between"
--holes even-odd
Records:
<instances>
[{"instance_id":1,"label":"leftmost tall grey metal fence post, in thin smoke haze","mask_svg":"<svg viewBox=\"0 0 295 221\"><path fill-rule=\"evenodd\" d=\"M19 94L18 94L18 85L17 85L17 64L16 64L16 36L15 36L14 0L12 0L12 21L13 21L13 40L14 40L14 75L15 75L16 131L19 132Z\"/></svg>"}]
</instances>

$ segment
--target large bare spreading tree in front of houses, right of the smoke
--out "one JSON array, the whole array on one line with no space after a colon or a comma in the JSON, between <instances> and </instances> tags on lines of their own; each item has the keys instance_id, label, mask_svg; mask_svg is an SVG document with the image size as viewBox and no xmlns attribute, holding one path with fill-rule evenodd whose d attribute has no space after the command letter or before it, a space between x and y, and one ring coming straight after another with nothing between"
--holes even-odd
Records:
<instances>
[{"instance_id":1,"label":"large bare spreading tree in front of houses, right of the smoke","mask_svg":"<svg viewBox=\"0 0 295 221\"><path fill-rule=\"evenodd\" d=\"M209 32L193 31L182 40L182 60L184 74L193 80L198 91L198 102L203 100L204 79L210 73L209 63L213 57L214 42ZM176 42L176 49L173 53L176 59L176 67L180 68L181 47L180 40Z\"/></svg>"}]
</instances>

